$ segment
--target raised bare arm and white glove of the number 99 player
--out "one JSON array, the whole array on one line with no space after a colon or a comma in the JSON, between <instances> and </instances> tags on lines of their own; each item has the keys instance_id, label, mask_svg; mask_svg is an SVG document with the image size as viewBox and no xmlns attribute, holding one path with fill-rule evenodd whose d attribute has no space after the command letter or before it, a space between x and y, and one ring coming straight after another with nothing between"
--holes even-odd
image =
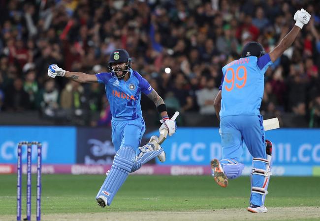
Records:
<instances>
[{"instance_id":1,"label":"raised bare arm and white glove of the number 99 player","mask_svg":"<svg viewBox=\"0 0 320 221\"><path fill-rule=\"evenodd\" d=\"M293 19L296 21L294 27L269 53L272 62L276 61L292 45L301 28L308 24L310 17L311 15L303 8L294 14Z\"/></svg>"}]
</instances>

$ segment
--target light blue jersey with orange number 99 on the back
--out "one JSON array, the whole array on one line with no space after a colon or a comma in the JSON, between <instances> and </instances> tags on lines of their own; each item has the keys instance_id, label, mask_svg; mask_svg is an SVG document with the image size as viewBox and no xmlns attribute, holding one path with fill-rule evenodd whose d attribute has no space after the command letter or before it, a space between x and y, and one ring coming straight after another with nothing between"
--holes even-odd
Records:
<instances>
[{"instance_id":1,"label":"light blue jersey with orange number 99 on the back","mask_svg":"<svg viewBox=\"0 0 320 221\"><path fill-rule=\"evenodd\" d=\"M272 64L269 54L248 56L222 68L220 118L229 115L259 115L264 90L264 73Z\"/></svg>"}]
</instances>

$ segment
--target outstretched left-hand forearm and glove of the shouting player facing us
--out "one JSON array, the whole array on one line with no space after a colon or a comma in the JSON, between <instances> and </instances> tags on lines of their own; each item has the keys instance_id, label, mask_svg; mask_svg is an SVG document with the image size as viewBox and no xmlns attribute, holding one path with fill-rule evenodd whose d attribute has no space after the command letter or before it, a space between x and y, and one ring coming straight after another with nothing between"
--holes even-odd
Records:
<instances>
[{"instance_id":1,"label":"outstretched left-hand forearm and glove of the shouting player facing us","mask_svg":"<svg viewBox=\"0 0 320 221\"><path fill-rule=\"evenodd\" d=\"M65 77L79 83L98 82L96 75L89 75L82 72L65 71L56 64L51 64L49 66L48 76L51 78L55 78L56 76Z\"/></svg>"}]
</instances>

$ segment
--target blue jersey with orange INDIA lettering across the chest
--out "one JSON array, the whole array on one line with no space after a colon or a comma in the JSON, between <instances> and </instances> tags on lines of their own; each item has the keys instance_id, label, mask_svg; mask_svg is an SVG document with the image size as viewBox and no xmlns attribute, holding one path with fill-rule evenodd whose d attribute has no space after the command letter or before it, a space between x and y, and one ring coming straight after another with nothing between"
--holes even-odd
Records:
<instances>
[{"instance_id":1,"label":"blue jersey with orange INDIA lettering across the chest","mask_svg":"<svg viewBox=\"0 0 320 221\"><path fill-rule=\"evenodd\" d=\"M148 95L153 89L138 72L130 69L128 81L119 80L109 72L98 73L96 78L98 83L105 84L105 92L113 117L124 120L134 120L142 117L141 92Z\"/></svg>"}]
</instances>

